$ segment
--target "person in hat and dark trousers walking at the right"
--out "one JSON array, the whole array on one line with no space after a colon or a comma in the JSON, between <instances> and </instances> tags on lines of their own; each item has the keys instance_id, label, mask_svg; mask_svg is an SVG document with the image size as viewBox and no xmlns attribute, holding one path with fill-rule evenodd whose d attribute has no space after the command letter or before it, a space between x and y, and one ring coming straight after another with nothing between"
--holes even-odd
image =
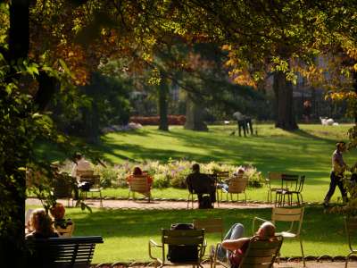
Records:
<instances>
[{"instance_id":1,"label":"person in hat and dark trousers walking at the right","mask_svg":"<svg viewBox=\"0 0 357 268\"><path fill-rule=\"evenodd\" d=\"M344 172L347 169L347 165L344 161L342 154L345 152L345 141L339 141L336 143L336 150L332 154L332 170L330 173L330 183L328 193L324 199L324 206L328 206L328 202L335 193L336 186L341 191L341 196L344 202L347 201L347 192L344 187Z\"/></svg>"}]
</instances>

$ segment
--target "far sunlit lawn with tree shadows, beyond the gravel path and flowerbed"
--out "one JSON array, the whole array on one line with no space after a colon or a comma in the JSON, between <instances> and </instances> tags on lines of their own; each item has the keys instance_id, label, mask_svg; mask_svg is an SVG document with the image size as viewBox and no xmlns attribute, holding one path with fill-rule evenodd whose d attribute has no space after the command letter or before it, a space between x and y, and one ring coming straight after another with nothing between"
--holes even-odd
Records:
<instances>
[{"instance_id":1,"label":"far sunlit lawn with tree shadows, beyond the gravel path and flowerbed","mask_svg":"<svg viewBox=\"0 0 357 268\"><path fill-rule=\"evenodd\" d=\"M115 164L145 160L167 162L169 159L187 159L198 163L218 162L235 165L252 163L265 176L268 172L293 172L306 176L303 198L307 202L321 202L328 191L331 155L337 140L348 140L351 124L322 126L300 124L300 130L285 131L272 124L255 125L258 136L240 138L229 136L235 125L209 126L209 131L184 130L171 126L170 131L156 126L142 130L115 132L104 135L100 146L105 161ZM62 160L54 148L41 144L39 154L51 160ZM345 154L345 162L353 164L357 152ZM338 191L338 189L337 189ZM266 200L267 188L248 188L250 200ZM104 189L106 197L128 197L126 188ZM340 196L336 193L332 202ZM154 189L153 197L187 198L187 190Z\"/></svg>"}]
</instances>

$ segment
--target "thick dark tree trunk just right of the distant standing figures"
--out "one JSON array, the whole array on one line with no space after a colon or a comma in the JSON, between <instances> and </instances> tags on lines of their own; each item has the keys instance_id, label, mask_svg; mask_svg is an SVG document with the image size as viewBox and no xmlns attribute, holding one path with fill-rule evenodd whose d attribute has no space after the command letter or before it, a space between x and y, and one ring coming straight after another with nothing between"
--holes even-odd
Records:
<instances>
[{"instance_id":1,"label":"thick dark tree trunk just right of the distant standing figures","mask_svg":"<svg viewBox=\"0 0 357 268\"><path fill-rule=\"evenodd\" d=\"M275 127L283 130L297 130L293 105L293 85L286 80L285 73L277 71L274 74L273 89L277 101Z\"/></svg>"}]
</instances>

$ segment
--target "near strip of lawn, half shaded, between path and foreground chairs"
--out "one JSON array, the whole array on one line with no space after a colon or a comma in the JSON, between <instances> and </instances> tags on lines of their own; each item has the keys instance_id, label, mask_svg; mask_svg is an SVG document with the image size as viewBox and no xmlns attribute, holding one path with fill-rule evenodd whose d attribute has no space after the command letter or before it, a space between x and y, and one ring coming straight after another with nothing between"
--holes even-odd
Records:
<instances>
[{"instance_id":1,"label":"near strip of lawn, half shaded, between path and foreground chairs","mask_svg":"<svg viewBox=\"0 0 357 268\"><path fill-rule=\"evenodd\" d=\"M221 217L225 231L235 222L245 225L245 234L252 235L252 219L270 219L271 209L212 209L212 210L130 210L66 208L66 217L75 222L74 236L101 235L104 244L95 249L94 264L149 261L149 239L161 241L160 230L172 222L192 222L195 218ZM303 218L303 247L305 255L346 255L343 216L324 214L321 207L308 206ZM209 234L208 245L219 242L220 236ZM282 256L300 255L298 241L285 240Z\"/></svg>"}]
</instances>

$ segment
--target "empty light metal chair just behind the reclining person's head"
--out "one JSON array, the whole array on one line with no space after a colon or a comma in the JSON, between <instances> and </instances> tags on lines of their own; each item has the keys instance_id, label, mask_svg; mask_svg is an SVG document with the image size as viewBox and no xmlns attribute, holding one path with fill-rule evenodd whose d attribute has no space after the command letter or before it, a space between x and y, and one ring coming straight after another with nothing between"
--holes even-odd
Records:
<instances>
[{"instance_id":1,"label":"empty light metal chair just behind the reclining person's head","mask_svg":"<svg viewBox=\"0 0 357 268\"><path fill-rule=\"evenodd\" d=\"M276 229L276 235L281 235L284 239L298 239L300 242L302 258L303 258L303 267L305 267L305 257L303 255L303 240L301 239L300 232L303 225L303 211L304 207L273 207L271 213L271 221ZM268 222L262 218L254 217L253 218L253 233L256 231L255 222ZM288 230L279 231L283 226L278 226L278 222L290 223ZM285 227L285 226L284 226Z\"/></svg>"}]
</instances>

